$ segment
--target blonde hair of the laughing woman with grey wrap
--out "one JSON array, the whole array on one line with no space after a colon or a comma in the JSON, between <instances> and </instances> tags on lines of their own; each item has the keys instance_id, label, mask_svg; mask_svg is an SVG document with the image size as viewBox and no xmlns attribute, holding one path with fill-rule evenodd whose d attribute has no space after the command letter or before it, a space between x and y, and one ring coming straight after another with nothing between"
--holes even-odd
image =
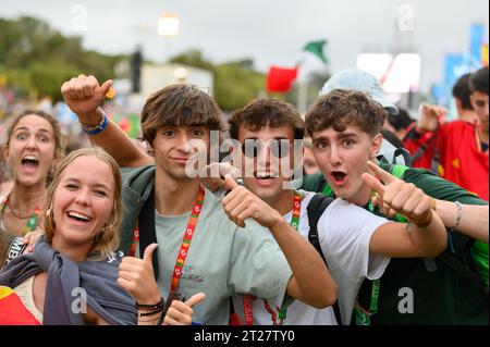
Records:
<instances>
[{"instance_id":1,"label":"blonde hair of the laughing woman with grey wrap","mask_svg":"<svg viewBox=\"0 0 490 347\"><path fill-rule=\"evenodd\" d=\"M51 244L54 236L56 224L53 219L53 203L54 203L54 191L61 181L61 174L63 171L77 158L79 157L96 157L103 162L108 163L112 171L112 176L114 178L114 196L111 219L108 225L102 228L102 231L94 239L94 248L90 252L90 258L94 260L103 260L110 253L112 253L119 244L119 228L122 222L122 196L121 187L122 179L121 173L119 172L119 166L115 160L109 156L100 147L87 147L75 150L65 157L56 168L53 178L51 184L48 186L45 195L44 202L44 228L45 237L48 244ZM88 169L89 170L89 169Z\"/></svg>"}]
</instances>

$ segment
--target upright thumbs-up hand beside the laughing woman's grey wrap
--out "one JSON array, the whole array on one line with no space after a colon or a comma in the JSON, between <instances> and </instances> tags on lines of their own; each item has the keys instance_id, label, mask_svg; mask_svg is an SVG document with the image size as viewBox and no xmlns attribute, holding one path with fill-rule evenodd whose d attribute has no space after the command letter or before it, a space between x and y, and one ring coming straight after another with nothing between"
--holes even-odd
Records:
<instances>
[{"instance_id":1,"label":"upright thumbs-up hand beside the laughing woman's grey wrap","mask_svg":"<svg viewBox=\"0 0 490 347\"><path fill-rule=\"evenodd\" d=\"M157 244L149 245L143 259L124 257L119 265L118 284L134 296L138 303L154 305L160 301L151 262L157 247Z\"/></svg>"}]
</instances>

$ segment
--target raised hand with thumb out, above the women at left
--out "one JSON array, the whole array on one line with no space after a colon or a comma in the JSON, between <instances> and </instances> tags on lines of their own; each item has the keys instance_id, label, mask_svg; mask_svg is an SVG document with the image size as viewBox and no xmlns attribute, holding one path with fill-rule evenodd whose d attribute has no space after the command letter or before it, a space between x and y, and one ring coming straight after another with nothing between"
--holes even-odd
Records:
<instances>
[{"instance_id":1,"label":"raised hand with thumb out, above the women at left","mask_svg":"<svg viewBox=\"0 0 490 347\"><path fill-rule=\"evenodd\" d=\"M111 79L100 86L96 77L78 75L61 86L61 95L70 110L77 115L90 114L102 104L111 86Z\"/></svg>"}]
</instances>

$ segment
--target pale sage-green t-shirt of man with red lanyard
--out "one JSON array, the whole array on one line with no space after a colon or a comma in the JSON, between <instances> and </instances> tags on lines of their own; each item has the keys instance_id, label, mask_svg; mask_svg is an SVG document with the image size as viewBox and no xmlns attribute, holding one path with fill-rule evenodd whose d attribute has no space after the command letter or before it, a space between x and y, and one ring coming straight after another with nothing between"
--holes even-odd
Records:
<instances>
[{"instance_id":1,"label":"pale sage-green t-shirt of man with red lanyard","mask_svg":"<svg viewBox=\"0 0 490 347\"><path fill-rule=\"evenodd\" d=\"M135 185L135 182L138 181L137 175L146 173L148 170L145 169L137 172L125 170L123 195L127 194L128 185L133 190L131 195L139 191L145 196L147 189L144 184ZM152 183L151 179L145 182ZM133 200L133 209L137 202L143 201ZM131 211L127 207L125 212L123 225L130 225L127 219L137 219L137 211ZM191 212L177 216L164 216L155 212L159 245L158 287L160 295L167 299ZM128 238L122 237L122 249L131 248L124 241L126 239ZM139 255L139 248L136 249L136 255ZM201 324L228 324L230 297L234 294L267 298L271 305L279 307L291 303L291 298L285 296L291 276L287 261L269 231L250 219L246 221L244 228L238 227L229 220L221 201L206 190L203 210L176 288L186 299L199 292L206 294L205 300L193 308L193 321Z\"/></svg>"}]
</instances>

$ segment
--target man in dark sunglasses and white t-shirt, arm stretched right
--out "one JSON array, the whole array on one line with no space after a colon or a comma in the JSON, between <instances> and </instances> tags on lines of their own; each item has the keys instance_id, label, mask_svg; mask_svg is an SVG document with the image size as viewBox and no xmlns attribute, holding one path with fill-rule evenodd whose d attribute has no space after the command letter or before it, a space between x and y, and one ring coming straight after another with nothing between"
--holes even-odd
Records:
<instances>
[{"instance_id":1,"label":"man in dark sunglasses and white t-shirt, arm stretched right","mask_svg":"<svg viewBox=\"0 0 490 347\"><path fill-rule=\"evenodd\" d=\"M372 112L384 112L381 107ZM256 99L233 112L229 120L230 136L242 146L232 149L233 162L240 168L244 185L257 195L307 238L307 207L314 194L291 188L293 173L301 172L304 122L291 104L279 99ZM378 124L381 127L382 122ZM379 149L379 148L378 148ZM230 178L228 178L229 181ZM372 176L367 177L375 181ZM378 183L379 184L379 183ZM445 244L439 216L432 214L428 197L415 199L415 191L402 182L377 189L404 195L414 202L399 212L413 215L412 233L406 225L379 219L342 199L330 203L318 221L322 255L338 285L338 300L343 324L350 324L357 290L364 278L382 275L390 257L436 256ZM414 211L420 209L415 218ZM431 216L430 216L431 215ZM433 218L429 224L424 219ZM417 220L417 221L416 221ZM428 221L428 220L426 220ZM422 246L424 245L424 246ZM267 300L236 295L233 298L242 322L249 324L328 325L340 323L332 307L315 309L295 301L287 310L279 310ZM252 317L252 320L250 320ZM339 317L339 314L336 314Z\"/></svg>"}]
</instances>

